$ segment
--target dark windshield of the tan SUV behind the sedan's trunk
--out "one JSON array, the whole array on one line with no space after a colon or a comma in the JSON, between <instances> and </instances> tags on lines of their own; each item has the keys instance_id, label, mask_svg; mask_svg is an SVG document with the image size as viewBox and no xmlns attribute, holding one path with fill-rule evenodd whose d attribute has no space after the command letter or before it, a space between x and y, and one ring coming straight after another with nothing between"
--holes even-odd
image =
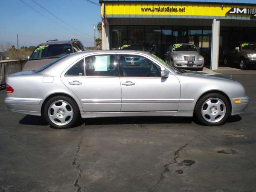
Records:
<instances>
[{"instance_id":1,"label":"dark windshield of the tan SUV behind the sedan's trunk","mask_svg":"<svg viewBox=\"0 0 256 192\"><path fill-rule=\"evenodd\" d=\"M70 44L40 45L35 48L29 60L59 58L72 52Z\"/></svg>"}]
</instances>

